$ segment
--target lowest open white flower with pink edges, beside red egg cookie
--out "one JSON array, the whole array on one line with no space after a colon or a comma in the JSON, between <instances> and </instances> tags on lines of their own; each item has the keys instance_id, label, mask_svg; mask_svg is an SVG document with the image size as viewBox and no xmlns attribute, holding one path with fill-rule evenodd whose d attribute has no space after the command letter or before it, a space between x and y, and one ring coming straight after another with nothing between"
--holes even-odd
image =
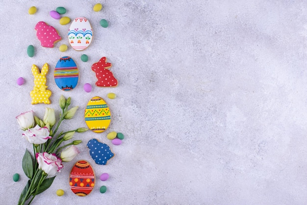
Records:
<instances>
[{"instance_id":1,"label":"lowest open white flower with pink edges, beside red egg cookie","mask_svg":"<svg viewBox=\"0 0 307 205\"><path fill-rule=\"evenodd\" d=\"M61 172L63 168L62 160L55 154L48 153L36 153L36 160L38 163L38 169L43 170L48 175L55 175L57 172Z\"/></svg>"}]
</instances>

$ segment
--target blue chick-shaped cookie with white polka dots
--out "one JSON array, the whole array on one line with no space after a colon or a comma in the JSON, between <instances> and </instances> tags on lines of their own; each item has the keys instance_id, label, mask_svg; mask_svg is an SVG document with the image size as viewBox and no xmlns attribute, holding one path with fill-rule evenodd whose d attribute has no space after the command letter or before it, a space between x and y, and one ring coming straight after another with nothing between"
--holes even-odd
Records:
<instances>
[{"instance_id":1,"label":"blue chick-shaped cookie with white polka dots","mask_svg":"<svg viewBox=\"0 0 307 205\"><path fill-rule=\"evenodd\" d=\"M86 147L90 149L90 155L96 164L106 165L108 160L114 156L110 147L97 139L88 141Z\"/></svg>"}]
</instances>

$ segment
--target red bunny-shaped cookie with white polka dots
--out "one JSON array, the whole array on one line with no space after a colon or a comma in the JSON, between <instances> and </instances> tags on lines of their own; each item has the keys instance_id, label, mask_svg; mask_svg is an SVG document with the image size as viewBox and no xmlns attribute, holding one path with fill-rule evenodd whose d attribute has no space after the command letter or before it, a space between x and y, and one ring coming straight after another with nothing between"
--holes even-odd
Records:
<instances>
[{"instance_id":1,"label":"red bunny-shaped cookie with white polka dots","mask_svg":"<svg viewBox=\"0 0 307 205\"><path fill-rule=\"evenodd\" d=\"M112 66L111 63L106 62L106 57L102 57L97 63L92 65L92 70L96 73L96 85L100 87L116 87L118 85L117 79L108 69Z\"/></svg>"}]
</instances>

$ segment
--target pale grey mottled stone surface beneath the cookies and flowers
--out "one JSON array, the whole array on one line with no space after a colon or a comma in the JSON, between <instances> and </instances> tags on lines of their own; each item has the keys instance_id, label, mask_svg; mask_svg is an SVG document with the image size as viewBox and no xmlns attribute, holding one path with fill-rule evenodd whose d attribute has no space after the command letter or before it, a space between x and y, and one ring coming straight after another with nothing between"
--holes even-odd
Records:
<instances>
[{"instance_id":1,"label":"pale grey mottled stone surface beneath the cookies and flowers","mask_svg":"<svg viewBox=\"0 0 307 205\"><path fill-rule=\"evenodd\" d=\"M71 5L2 0L0 21L1 115L0 154L2 204L17 204L26 184L22 170L25 149L15 116L34 110L44 116L44 104L31 105L32 64L50 64L51 108L61 94L79 105L76 117L63 130L85 127L83 111L94 96L110 106L113 119L102 134L86 132L81 153L64 163L48 191L33 205L46 204L306 204L307 167L307 3L253 0L113 0ZM35 5L38 10L29 15ZM62 26L48 12L58 6L71 19L86 17L94 38L85 51L74 51ZM14 10L10 10L14 8ZM18 16L18 18L17 18ZM107 28L99 24L109 22ZM34 26L54 26L63 40L48 49L40 46ZM35 56L26 54L28 45ZM69 46L61 53L58 47ZM81 54L89 60L82 62ZM77 87L57 88L53 69L62 56L77 63ZM95 86L91 65L102 56L112 63L116 88ZM7 70L6 70L7 69ZM18 77L26 83L16 84ZM90 93L83 90L91 83ZM108 99L113 92L116 99ZM58 113L57 113L58 114ZM109 131L125 134L123 144L106 139ZM86 143L97 138L115 157L108 165L91 159ZM97 180L84 198L69 188L69 173L77 160L88 160ZM19 173L18 182L12 175ZM99 192L105 185L108 191ZM63 189L65 195L56 196ZM10 190L10 191L8 191Z\"/></svg>"}]
</instances>

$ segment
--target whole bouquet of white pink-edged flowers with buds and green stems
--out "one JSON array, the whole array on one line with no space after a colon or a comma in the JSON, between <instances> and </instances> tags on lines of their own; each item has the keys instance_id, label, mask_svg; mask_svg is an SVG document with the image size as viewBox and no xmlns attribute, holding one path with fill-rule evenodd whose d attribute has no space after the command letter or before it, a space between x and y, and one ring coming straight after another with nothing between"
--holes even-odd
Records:
<instances>
[{"instance_id":1,"label":"whole bouquet of white pink-edged flowers with buds and green stems","mask_svg":"<svg viewBox=\"0 0 307 205\"><path fill-rule=\"evenodd\" d=\"M24 205L31 198L29 205L37 194L48 189L55 178L54 175L61 172L62 162L71 161L79 153L76 145L81 143L81 140L65 145L62 143L72 139L75 132L85 132L87 128L61 131L57 134L61 122L72 119L77 111L78 106L68 109L70 103L71 98L66 100L63 96L60 97L59 104L62 111L57 124L54 110L51 108L46 108L43 120L34 116L33 111L16 117L20 128L25 131L23 137L33 144L33 155L26 150L23 157L23 170L29 180L20 195L18 205Z\"/></svg>"}]
</instances>

